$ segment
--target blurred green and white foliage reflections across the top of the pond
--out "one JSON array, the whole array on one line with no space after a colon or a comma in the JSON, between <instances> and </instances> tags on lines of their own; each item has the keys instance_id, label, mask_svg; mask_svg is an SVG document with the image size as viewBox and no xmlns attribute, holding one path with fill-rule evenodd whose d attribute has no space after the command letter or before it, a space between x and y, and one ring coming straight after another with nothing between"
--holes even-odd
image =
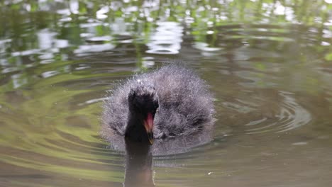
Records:
<instances>
[{"instance_id":1,"label":"blurred green and white foliage reflections across the top of the pond","mask_svg":"<svg viewBox=\"0 0 332 187\"><path fill-rule=\"evenodd\" d=\"M310 50L322 52L331 46L331 10L328 0L4 0L0 2L0 76L11 74L13 87L18 87L32 81L23 72L37 64L126 48L135 48L138 66L147 67L149 60L143 59L143 53L179 54L188 37L204 52L237 45L218 41L234 38L250 45L258 45L258 38L306 40L302 42ZM330 52L318 61L331 58Z\"/></svg>"}]
</instances>

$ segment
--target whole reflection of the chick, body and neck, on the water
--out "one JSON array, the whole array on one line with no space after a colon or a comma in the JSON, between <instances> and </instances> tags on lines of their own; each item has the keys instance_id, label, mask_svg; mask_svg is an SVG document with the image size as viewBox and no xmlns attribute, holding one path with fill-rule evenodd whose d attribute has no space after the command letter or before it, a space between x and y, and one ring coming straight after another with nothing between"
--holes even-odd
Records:
<instances>
[{"instance_id":1,"label":"whole reflection of the chick, body and neck, on the water","mask_svg":"<svg viewBox=\"0 0 332 187\"><path fill-rule=\"evenodd\" d=\"M108 128L104 126L104 132ZM125 180L123 186L155 186L153 181L153 156L167 156L189 152L192 148L211 142L211 131L205 130L191 135L155 139L153 145L146 142L133 142L121 136L106 133L111 142L109 148L126 153ZM172 167L172 166L171 166Z\"/></svg>"}]
</instances>

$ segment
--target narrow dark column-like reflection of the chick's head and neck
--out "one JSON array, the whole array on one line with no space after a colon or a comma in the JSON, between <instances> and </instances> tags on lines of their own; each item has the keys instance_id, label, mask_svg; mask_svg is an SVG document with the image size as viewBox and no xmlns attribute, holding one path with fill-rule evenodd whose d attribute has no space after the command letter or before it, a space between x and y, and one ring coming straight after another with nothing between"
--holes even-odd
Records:
<instances>
[{"instance_id":1,"label":"narrow dark column-like reflection of the chick's head and neck","mask_svg":"<svg viewBox=\"0 0 332 187\"><path fill-rule=\"evenodd\" d=\"M126 140L126 171L123 186L155 186L150 145Z\"/></svg>"}]
</instances>

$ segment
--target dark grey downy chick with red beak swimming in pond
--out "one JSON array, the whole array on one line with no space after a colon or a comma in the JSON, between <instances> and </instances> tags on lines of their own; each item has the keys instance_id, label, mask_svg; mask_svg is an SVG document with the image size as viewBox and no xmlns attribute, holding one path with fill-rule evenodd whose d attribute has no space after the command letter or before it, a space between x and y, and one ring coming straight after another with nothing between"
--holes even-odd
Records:
<instances>
[{"instance_id":1,"label":"dark grey downy chick with red beak swimming in pond","mask_svg":"<svg viewBox=\"0 0 332 187\"><path fill-rule=\"evenodd\" d=\"M104 137L153 144L211 129L214 103L206 82L170 64L119 84L104 103ZM111 133L111 135L109 135Z\"/></svg>"}]
</instances>

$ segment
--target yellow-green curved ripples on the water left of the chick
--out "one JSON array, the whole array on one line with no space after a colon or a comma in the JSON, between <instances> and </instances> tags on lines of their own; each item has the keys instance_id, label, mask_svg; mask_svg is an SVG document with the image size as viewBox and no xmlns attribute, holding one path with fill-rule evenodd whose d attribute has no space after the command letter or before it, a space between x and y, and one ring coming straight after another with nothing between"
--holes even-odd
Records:
<instances>
[{"instance_id":1,"label":"yellow-green curved ripples on the water left of the chick","mask_svg":"<svg viewBox=\"0 0 332 187\"><path fill-rule=\"evenodd\" d=\"M82 65L87 68L75 68ZM105 89L114 79L122 79L123 69L105 73L97 63L82 60L33 69L40 75L58 70L1 94L1 162L50 176L120 182L123 157L107 149L99 137L99 113ZM135 66L128 69L133 72ZM87 72L91 76L82 77Z\"/></svg>"}]
</instances>

